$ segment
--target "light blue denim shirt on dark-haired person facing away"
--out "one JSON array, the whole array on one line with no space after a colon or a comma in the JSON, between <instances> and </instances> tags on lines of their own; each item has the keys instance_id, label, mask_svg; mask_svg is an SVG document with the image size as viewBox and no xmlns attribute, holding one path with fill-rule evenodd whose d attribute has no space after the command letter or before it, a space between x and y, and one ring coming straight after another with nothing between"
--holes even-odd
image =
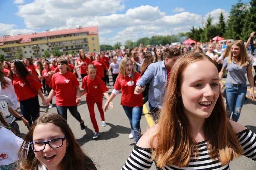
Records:
<instances>
[{"instance_id":1,"label":"light blue denim shirt on dark-haired person facing away","mask_svg":"<svg viewBox=\"0 0 256 170\"><path fill-rule=\"evenodd\" d=\"M150 83L148 101L152 107L162 108L162 100L166 92L167 70L165 61L152 63L148 66L145 73L136 85L141 87Z\"/></svg>"}]
</instances>

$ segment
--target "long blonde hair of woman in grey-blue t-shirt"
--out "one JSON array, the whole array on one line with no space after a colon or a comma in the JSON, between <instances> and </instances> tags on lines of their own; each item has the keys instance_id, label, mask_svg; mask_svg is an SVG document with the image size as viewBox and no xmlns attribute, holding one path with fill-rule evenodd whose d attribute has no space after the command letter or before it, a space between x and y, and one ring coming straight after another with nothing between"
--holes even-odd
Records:
<instances>
[{"instance_id":1,"label":"long blonde hair of woman in grey-blue t-shirt","mask_svg":"<svg viewBox=\"0 0 256 170\"><path fill-rule=\"evenodd\" d=\"M240 61L237 63L238 66L245 67L249 64L249 59L246 53L246 49L242 40L236 40L233 42L232 45L236 45L240 47ZM228 58L228 63L231 64L233 60L233 54L231 53L230 57Z\"/></svg>"}]
</instances>

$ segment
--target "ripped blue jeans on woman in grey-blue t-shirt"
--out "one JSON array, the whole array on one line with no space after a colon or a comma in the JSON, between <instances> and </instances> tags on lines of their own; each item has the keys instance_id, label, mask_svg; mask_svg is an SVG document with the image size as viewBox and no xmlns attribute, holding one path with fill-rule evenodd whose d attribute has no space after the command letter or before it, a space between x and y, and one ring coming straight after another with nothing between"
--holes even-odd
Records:
<instances>
[{"instance_id":1,"label":"ripped blue jeans on woman in grey-blue t-shirt","mask_svg":"<svg viewBox=\"0 0 256 170\"><path fill-rule=\"evenodd\" d=\"M228 118L233 112L231 119L237 122L246 97L247 85L246 83L239 85L226 83L225 87Z\"/></svg>"}]
</instances>

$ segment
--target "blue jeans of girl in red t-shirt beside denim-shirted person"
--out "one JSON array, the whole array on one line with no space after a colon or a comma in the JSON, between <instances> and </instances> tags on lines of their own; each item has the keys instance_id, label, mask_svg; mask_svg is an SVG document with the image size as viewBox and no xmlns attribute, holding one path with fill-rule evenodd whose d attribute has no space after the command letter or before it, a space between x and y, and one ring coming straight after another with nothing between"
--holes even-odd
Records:
<instances>
[{"instance_id":1,"label":"blue jeans of girl in red t-shirt beside denim-shirted person","mask_svg":"<svg viewBox=\"0 0 256 170\"><path fill-rule=\"evenodd\" d=\"M135 137L135 144L138 142L140 139L140 119L142 116L142 108L143 106L140 107L129 107L129 106L123 106L125 110L125 114L127 115L130 124L131 124L131 129L134 130L134 137Z\"/></svg>"}]
</instances>

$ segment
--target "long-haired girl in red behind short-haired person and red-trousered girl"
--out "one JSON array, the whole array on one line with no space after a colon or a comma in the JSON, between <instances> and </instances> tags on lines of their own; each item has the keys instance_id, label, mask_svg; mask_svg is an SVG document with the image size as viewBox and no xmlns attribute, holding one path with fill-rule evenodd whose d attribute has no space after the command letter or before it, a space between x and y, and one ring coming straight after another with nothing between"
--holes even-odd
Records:
<instances>
[{"instance_id":1,"label":"long-haired girl in red behind short-haired person and red-trousered girl","mask_svg":"<svg viewBox=\"0 0 256 170\"><path fill-rule=\"evenodd\" d=\"M82 79L88 75L87 73L87 67L91 63L91 60L85 56L85 52L83 49L79 50L78 58L76 60L77 65L81 66L79 67L79 72L81 74Z\"/></svg>"}]
</instances>

